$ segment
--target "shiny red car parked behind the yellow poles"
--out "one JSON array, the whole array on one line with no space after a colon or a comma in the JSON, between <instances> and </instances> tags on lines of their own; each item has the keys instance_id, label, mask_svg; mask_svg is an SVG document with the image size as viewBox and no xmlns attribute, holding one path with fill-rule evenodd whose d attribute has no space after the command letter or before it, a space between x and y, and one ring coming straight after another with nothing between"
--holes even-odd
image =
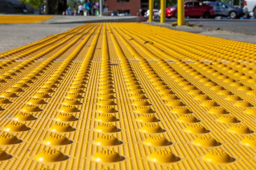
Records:
<instances>
[{"instance_id":1,"label":"shiny red car parked behind the yellow poles","mask_svg":"<svg viewBox=\"0 0 256 170\"><path fill-rule=\"evenodd\" d=\"M214 16L213 7L204 4L201 1L186 1L184 2L185 16L195 18L210 18ZM166 18L177 18L177 4L165 9Z\"/></svg>"}]
</instances>

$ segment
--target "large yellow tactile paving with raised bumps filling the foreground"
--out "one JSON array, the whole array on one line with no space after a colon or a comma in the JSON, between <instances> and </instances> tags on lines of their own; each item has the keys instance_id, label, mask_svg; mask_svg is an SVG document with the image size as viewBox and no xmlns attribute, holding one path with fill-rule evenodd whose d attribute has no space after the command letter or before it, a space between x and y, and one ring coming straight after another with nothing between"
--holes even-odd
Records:
<instances>
[{"instance_id":1,"label":"large yellow tactile paving with raised bumps filling the foreground","mask_svg":"<svg viewBox=\"0 0 256 170\"><path fill-rule=\"evenodd\" d=\"M90 23L0 54L0 169L255 164L256 45Z\"/></svg>"}]
</instances>

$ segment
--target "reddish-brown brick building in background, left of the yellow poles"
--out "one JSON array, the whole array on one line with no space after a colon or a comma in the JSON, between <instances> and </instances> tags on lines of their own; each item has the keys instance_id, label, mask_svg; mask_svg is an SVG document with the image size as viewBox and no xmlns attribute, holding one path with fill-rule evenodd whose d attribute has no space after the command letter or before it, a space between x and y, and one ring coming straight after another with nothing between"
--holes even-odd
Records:
<instances>
[{"instance_id":1,"label":"reddish-brown brick building in background, left of the yellow poles","mask_svg":"<svg viewBox=\"0 0 256 170\"><path fill-rule=\"evenodd\" d=\"M109 11L137 15L140 9L142 14L148 9L148 0L107 0L105 5Z\"/></svg>"}]
</instances>

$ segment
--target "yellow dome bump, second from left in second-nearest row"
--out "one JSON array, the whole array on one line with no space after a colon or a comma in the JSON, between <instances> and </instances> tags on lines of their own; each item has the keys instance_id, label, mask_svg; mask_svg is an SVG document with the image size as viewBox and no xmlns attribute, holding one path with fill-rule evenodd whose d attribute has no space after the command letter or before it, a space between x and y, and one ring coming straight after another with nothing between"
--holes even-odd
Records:
<instances>
[{"instance_id":1,"label":"yellow dome bump, second from left in second-nearest row","mask_svg":"<svg viewBox=\"0 0 256 170\"><path fill-rule=\"evenodd\" d=\"M67 137L58 134L52 134L44 140L45 145L68 145L69 143L70 140Z\"/></svg>"}]
</instances>

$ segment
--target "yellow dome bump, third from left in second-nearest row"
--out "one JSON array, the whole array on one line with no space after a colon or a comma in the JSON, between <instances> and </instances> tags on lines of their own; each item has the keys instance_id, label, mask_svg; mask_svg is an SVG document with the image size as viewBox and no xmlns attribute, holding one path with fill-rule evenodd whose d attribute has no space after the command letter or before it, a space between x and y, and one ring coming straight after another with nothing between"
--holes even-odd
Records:
<instances>
[{"instance_id":1,"label":"yellow dome bump, third from left in second-nearest row","mask_svg":"<svg viewBox=\"0 0 256 170\"><path fill-rule=\"evenodd\" d=\"M119 145L120 141L112 135L102 135L94 141L95 145L99 146L114 146Z\"/></svg>"}]
</instances>

